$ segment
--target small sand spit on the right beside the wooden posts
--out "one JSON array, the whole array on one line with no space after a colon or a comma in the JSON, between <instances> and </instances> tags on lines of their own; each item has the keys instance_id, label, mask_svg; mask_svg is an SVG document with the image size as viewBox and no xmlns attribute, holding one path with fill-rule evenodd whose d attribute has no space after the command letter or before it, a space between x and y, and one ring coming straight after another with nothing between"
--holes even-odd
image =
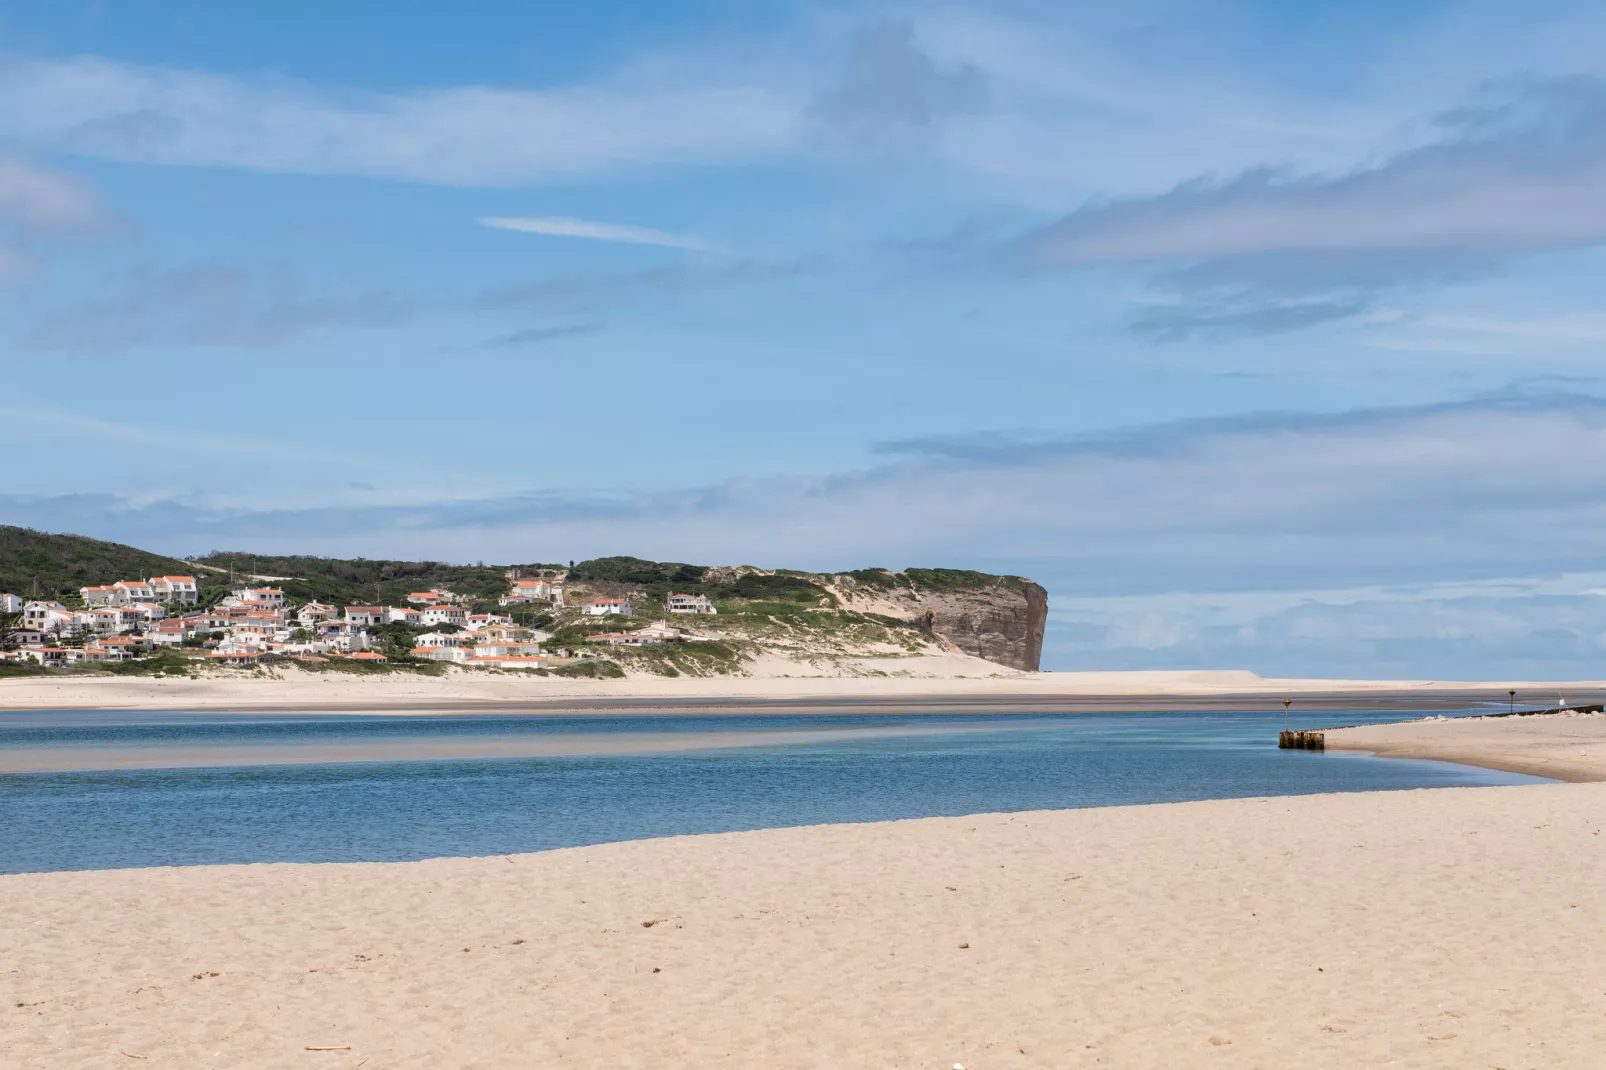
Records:
<instances>
[{"instance_id":1,"label":"small sand spit on the right beside the wooden posts","mask_svg":"<svg viewBox=\"0 0 1606 1070\"><path fill-rule=\"evenodd\" d=\"M1433 758L1558 781L1606 781L1606 717L1478 717L1367 725L1327 733L1335 750Z\"/></svg>"}]
</instances>

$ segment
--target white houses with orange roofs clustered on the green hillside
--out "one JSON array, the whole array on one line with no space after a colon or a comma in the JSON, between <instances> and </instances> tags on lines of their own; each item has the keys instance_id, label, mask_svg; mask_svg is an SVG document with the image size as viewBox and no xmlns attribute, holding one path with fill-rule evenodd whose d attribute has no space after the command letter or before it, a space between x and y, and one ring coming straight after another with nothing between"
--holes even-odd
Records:
<instances>
[{"instance_id":1,"label":"white houses with orange roofs clustered on the green hillside","mask_svg":"<svg viewBox=\"0 0 1606 1070\"><path fill-rule=\"evenodd\" d=\"M276 657L321 660L349 657L384 662L373 631L403 623L421 628L413 657L483 668L546 668L552 657L536 635L503 614L471 614L451 591L413 591L406 606L292 606L275 586L243 586L209 609L199 602L194 577L164 575L119 580L79 590L84 609L56 601L22 599L0 593L0 612L19 617L13 628L14 651L0 657L34 660L45 667L143 657L161 647L190 647L201 657L230 665L254 665ZM564 604L562 580L511 577L503 607L546 602ZM670 594L673 615L716 612L703 594ZM622 598L597 598L581 607L585 617L630 617L633 606ZM684 636L668 622L634 631L601 631L586 636L609 646L655 646ZM63 643L69 639L69 643Z\"/></svg>"}]
</instances>

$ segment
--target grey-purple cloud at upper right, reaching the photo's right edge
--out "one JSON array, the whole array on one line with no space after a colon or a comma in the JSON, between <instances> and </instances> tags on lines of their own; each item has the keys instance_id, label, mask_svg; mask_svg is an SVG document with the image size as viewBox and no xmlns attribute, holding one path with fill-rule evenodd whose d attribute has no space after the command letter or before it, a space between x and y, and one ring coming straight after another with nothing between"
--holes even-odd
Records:
<instances>
[{"instance_id":1,"label":"grey-purple cloud at upper right, reaching the photo's right edge","mask_svg":"<svg viewBox=\"0 0 1606 1070\"><path fill-rule=\"evenodd\" d=\"M1261 167L1160 196L1089 202L1028 233L1039 267L1158 265L1152 337L1344 320L1402 284L1486 276L1606 243L1606 80L1487 87L1437 140L1347 174Z\"/></svg>"}]
</instances>

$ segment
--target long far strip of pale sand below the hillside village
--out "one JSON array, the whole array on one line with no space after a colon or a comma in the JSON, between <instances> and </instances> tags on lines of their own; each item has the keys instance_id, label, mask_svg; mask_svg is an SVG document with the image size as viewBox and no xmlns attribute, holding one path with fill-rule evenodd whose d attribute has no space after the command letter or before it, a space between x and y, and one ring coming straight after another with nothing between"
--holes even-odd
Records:
<instances>
[{"instance_id":1,"label":"long far strip of pale sand below the hillside village","mask_svg":"<svg viewBox=\"0 0 1606 1070\"><path fill-rule=\"evenodd\" d=\"M914 662L917 659L904 659ZM1251 672L1087 672L1020 673L976 659L931 659L943 672L909 672L904 676L708 676L628 680L564 680L453 670L443 676L390 673L357 676L313 673L297 668L271 672L215 672L199 678L141 676L24 676L0 680L0 709L276 709L276 710L368 710L368 712L485 712L509 707L519 712L567 713L586 707L716 710L726 705L744 712L784 712L790 702L809 704L819 712L825 702L927 704L951 700L975 709L1243 709L1246 700L1262 705L1283 696L1299 700L1299 709L1344 707L1355 704L1400 705L1402 709L1449 709L1478 702L1505 704L1506 691L1543 699L1558 688L1585 700L1606 694L1606 683L1529 681L1423 681L1423 680L1270 680ZM976 675L954 673L949 662L983 667ZM930 667L928 667L930 668ZM1598 700L1588 697L1588 700ZM756 705L769 710L756 710ZM1277 709L1282 709L1277 705Z\"/></svg>"}]
</instances>

